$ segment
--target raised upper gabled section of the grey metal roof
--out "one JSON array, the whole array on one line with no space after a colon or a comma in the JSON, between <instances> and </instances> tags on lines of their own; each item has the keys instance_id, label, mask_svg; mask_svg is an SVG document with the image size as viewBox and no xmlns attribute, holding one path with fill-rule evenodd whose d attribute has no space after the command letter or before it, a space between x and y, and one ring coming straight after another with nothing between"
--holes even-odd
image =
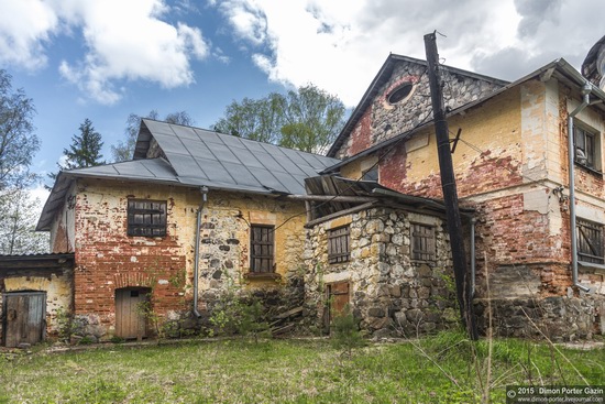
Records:
<instances>
[{"instance_id":1,"label":"raised upper gabled section of the grey metal roof","mask_svg":"<svg viewBox=\"0 0 605 404\"><path fill-rule=\"evenodd\" d=\"M183 184L228 190L305 194L305 178L339 162L274 144L151 119L141 122L134 161L153 140ZM150 151L150 149L152 149Z\"/></svg>"}]
</instances>

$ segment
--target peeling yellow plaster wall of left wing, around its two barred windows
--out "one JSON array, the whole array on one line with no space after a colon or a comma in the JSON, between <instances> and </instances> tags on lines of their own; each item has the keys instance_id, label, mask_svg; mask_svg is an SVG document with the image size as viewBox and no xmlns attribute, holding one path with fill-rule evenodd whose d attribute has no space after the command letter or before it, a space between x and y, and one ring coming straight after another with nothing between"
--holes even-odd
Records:
<instances>
[{"instance_id":1,"label":"peeling yellow plaster wall of left wing, around its two barred windows","mask_svg":"<svg viewBox=\"0 0 605 404\"><path fill-rule=\"evenodd\" d=\"M107 256L99 256L102 252L95 250L91 239L96 243L105 243L106 248L110 245L111 253L132 255L131 260L157 251L154 250L160 243L156 239L127 237L125 212L129 197L168 201L167 232L175 241L170 251L185 256L187 282L183 293L190 297L196 214L201 201L201 194L197 188L80 179L78 200L82 204L79 203L79 206L87 208L78 210L75 220L77 263L82 262L85 254L86 261L90 263L97 258L107 261ZM202 210L200 231L200 295L205 291L224 288L227 274L234 282L243 281L248 286L278 285L274 280L244 280L243 275L250 267L250 225L275 226L276 273L284 279L288 272L298 271L302 265L300 256L305 244L305 204L301 201L210 189ZM228 240L233 243L228 243ZM226 267L226 264L230 267ZM220 280L213 277L217 270L223 272ZM103 285L97 287L114 287L105 285L111 283L109 277L99 282Z\"/></svg>"}]
</instances>

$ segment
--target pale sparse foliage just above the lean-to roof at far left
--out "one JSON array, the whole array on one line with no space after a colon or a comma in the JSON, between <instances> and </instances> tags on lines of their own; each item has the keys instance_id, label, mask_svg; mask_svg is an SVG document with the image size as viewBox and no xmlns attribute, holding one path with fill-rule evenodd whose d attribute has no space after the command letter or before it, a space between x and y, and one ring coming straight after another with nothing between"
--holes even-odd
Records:
<instances>
[{"instance_id":1,"label":"pale sparse foliage just above the lean-to roof at far left","mask_svg":"<svg viewBox=\"0 0 605 404\"><path fill-rule=\"evenodd\" d=\"M0 190L0 254L48 252L48 233L35 232L40 200L25 188Z\"/></svg>"}]
</instances>

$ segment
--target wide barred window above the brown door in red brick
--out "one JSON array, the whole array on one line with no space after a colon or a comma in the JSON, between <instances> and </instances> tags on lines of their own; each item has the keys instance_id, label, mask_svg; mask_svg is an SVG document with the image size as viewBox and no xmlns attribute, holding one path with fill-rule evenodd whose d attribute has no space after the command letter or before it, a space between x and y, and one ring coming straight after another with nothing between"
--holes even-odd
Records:
<instances>
[{"instance_id":1,"label":"wide barred window above the brown door in red brick","mask_svg":"<svg viewBox=\"0 0 605 404\"><path fill-rule=\"evenodd\" d=\"M166 201L129 199L128 234L143 237L166 236Z\"/></svg>"}]
</instances>

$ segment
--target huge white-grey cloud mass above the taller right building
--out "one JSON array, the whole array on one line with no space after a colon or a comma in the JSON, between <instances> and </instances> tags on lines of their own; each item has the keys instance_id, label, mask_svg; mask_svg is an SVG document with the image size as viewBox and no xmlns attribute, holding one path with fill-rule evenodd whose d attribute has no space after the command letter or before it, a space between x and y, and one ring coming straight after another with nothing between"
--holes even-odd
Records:
<instances>
[{"instance_id":1,"label":"huge white-grey cloud mass above the taller right building","mask_svg":"<svg viewBox=\"0 0 605 404\"><path fill-rule=\"evenodd\" d=\"M271 80L314 83L354 106L387 55L425 58L438 30L446 64L515 79L554 57L580 67L602 35L602 0L227 0L216 2ZM553 56L557 55L557 56Z\"/></svg>"}]
</instances>

